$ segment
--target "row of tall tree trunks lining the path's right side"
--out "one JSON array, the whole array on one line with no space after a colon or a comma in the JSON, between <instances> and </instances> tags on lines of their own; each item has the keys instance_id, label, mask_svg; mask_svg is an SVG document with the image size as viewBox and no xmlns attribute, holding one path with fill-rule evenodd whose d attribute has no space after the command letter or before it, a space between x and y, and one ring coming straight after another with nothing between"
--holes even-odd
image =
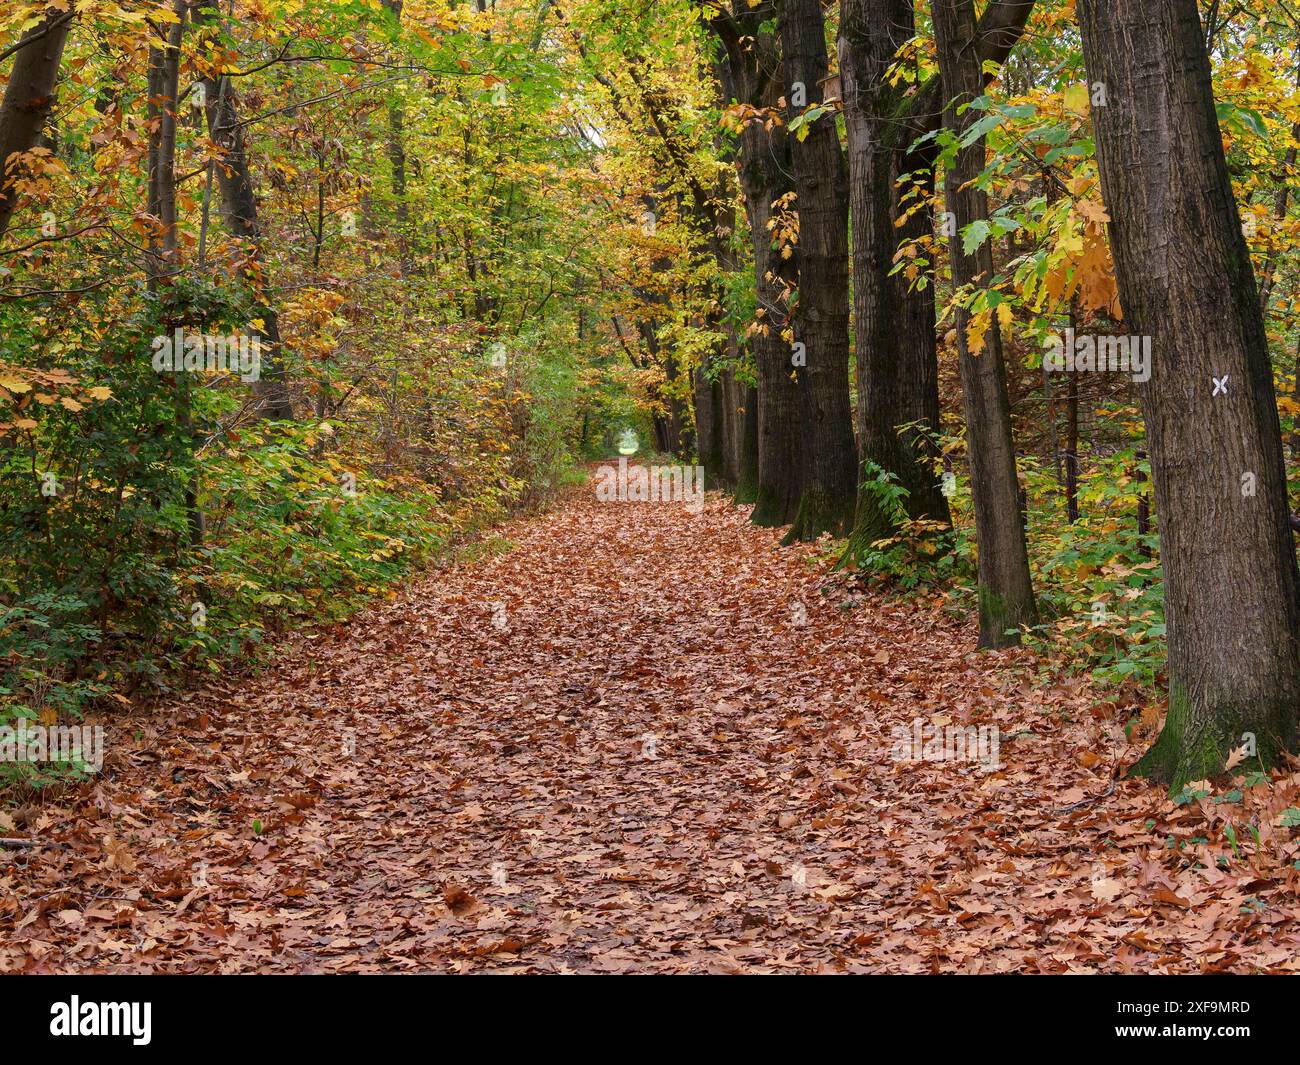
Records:
<instances>
[{"instance_id":1,"label":"row of tall tree trunks lining the path's right side","mask_svg":"<svg viewBox=\"0 0 1300 1065\"><path fill-rule=\"evenodd\" d=\"M950 521L935 443L933 269L918 282L898 268L901 250L946 239L984 648L1036 622L1002 335L1011 308L989 299L998 267L994 241L980 238L996 221L988 86L1035 8L842 0L828 78L836 12L818 0L699 4L716 40L702 48L740 116L758 430L746 437L741 417L719 415L734 364L719 356L723 369L706 364L697 380L699 451L715 479L741 482L741 498L753 451L753 520L789 525L786 540L848 536L849 562L900 520L881 503L881 476L906 490L907 516ZM1280 424L1197 4L1079 0L1078 33L1124 329L1154 350L1138 394L1170 705L1139 770L1180 784L1221 770L1251 736L1266 761L1294 749L1300 601ZM932 66L907 60L927 34ZM1257 490L1243 495L1247 473Z\"/></svg>"}]
</instances>

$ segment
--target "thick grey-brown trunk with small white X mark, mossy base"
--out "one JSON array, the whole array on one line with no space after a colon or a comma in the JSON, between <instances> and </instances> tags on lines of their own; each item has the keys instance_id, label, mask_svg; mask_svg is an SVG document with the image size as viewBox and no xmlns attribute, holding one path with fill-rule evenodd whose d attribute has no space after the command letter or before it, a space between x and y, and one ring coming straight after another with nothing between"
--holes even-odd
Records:
<instances>
[{"instance_id":1,"label":"thick grey-brown trunk with small white X mark, mossy base","mask_svg":"<svg viewBox=\"0 0 1300 1065\"><path fill-rule=\"evenodd\" d=\"M1173 787L1296 740L1300 577L1268 341L1196 0L1079 0L1102 195L1165 564L1169 714L1136 771ZM1245 737L1245 739L1243 739Z\"/></svg>"}]
</instances>

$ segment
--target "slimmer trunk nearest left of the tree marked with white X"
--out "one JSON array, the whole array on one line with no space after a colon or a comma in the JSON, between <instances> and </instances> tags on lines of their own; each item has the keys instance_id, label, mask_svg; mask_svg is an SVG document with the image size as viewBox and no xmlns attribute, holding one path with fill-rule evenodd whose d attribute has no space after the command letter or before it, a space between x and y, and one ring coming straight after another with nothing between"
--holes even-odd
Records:
<instances>
[{"instance_id":1,"label":"slimmer trunk nearest left of the tree marked with white X","mask_svg":"<svg viewBox=\"0 0 1300 1065\"><path fill-rule=\"evenodd\" d=\"M935 38L942 78L944 114L961 139L978 112L958 113L984 90L976 47L974 0L935 0ZM984 169L984 138L963 148L944 174L948 209L957 220L950 243L953 285L963 287L993 276L993 251L988 241L967 255L961 231L988 218L988 196L974 187ZM1019 642L1020 625L1037 620L1030 560L1020 523L1015 449L1011 442L1011 410L1002 364L1002 341L994 320L984 348L971 352L967 342L970 315L957 311L957 358L961 362L962 399L966 411L966 450L975 502L975 534L979 542L979 645L1004 648Z\"/></svg>"}]
</instances>

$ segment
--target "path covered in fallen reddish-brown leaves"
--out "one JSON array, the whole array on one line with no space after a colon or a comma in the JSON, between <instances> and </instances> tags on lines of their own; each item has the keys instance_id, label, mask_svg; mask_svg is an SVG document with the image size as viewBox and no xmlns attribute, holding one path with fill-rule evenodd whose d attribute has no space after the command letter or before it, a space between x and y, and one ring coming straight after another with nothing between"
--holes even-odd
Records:
<instances>
[{"instance_id":1,"label":"path covered in fallen reddish-brown leaves","mask_svg":"<svg viewBox=\"0 0 1300 1065\"><path fill-rule=\"evenodd\" d=\"M506 534L5 814L0 970L1300 970L1296 775L1115 780L1105 693L720 501ZM916 718L1002 769L894 761Z\"/></svg>"}]
</instances>

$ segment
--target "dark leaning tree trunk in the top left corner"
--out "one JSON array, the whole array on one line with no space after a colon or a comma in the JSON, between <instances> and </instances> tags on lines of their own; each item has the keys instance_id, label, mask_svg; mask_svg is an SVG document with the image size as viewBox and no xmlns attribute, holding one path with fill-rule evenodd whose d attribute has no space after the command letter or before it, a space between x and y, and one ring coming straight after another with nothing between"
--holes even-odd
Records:
<instances>
[{"instance_id":1,"label":"dark leaning tree trunk in the top left corner","mask_svg":"<svg viewBox=\"0 0 1300 1065\"><path fill-rule=\"evenodd\" d=\"M29 30L14 55L0 104L0 238L9 229L18 195L13 189L17 156L36 146L55 107L55 82L74 13L49 8Z\"/></svg>"}]
</instances>

